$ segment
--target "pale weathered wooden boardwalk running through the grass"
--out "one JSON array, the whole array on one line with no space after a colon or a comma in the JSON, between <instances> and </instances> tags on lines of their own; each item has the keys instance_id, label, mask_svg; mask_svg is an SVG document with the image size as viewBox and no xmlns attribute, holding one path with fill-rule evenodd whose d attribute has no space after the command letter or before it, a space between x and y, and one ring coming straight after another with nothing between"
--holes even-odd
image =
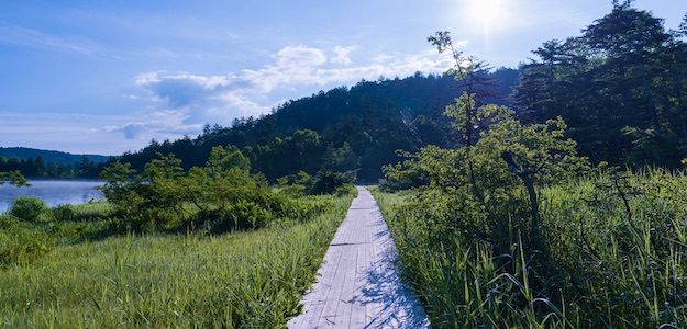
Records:
<instances>
[{"instance_id":1,"label":"pale weathered wooden boardwalk running through the grass","mask_svg":"<svg viewBox=\"0 0 687 329\"><path fill-rule=\"evenodd\" d=\"M396 268L389 229L369 191L358 196L332 240L320 275L288 327L429 328L422 306Z\"/></svg>"}]
</instances>

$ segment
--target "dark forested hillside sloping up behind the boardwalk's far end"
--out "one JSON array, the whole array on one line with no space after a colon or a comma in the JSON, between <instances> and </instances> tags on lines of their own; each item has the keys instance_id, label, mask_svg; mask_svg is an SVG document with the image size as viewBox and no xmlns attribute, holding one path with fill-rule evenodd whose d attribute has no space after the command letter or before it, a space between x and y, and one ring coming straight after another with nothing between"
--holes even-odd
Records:
<instances>
[{"instance_id":1,"label":"dark forested hillside sloping up behind the boardwalk's far end","mask_svg":"<svg viewBox=\"0 0 687 329\"><path fill-rule=\"evenodd\" d=\"M490 87L491 101L505 104L519 72L485 75L497 82ZM174 154L188 170L202 166L212 147L233 145L251 159L254 172L270 181L320 169L357 170L359 180L376 181L381 166L399 160L396 150L456 143L443 110L458 88L451 77L421 73L362 81L286 102L259 118L235 120L231 127L208 125L197 138L153 140L120 161L141 171L158 154Z\"/></svg>"}]
</instances>

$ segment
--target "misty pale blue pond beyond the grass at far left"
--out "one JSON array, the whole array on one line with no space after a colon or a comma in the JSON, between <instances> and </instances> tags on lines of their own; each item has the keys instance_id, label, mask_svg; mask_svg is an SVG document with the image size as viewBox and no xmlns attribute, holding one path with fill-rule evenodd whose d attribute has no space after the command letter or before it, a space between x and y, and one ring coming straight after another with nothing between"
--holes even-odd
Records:
<instances>
[{"instance_id":1,"label":"misty pale blue pond beyond the grass at far left","mask_svg":"<svg viewBox=\"0 0 687 329\"><path fill-rule=\"evenodd\" d=\"M29 183L31 186L27 188L0 185L0 213L4 213L20 196L37 197L49 206L102 200L102 193L96 189L103 184L101 181L30 180Z\"/></svg>"}]
</instances>

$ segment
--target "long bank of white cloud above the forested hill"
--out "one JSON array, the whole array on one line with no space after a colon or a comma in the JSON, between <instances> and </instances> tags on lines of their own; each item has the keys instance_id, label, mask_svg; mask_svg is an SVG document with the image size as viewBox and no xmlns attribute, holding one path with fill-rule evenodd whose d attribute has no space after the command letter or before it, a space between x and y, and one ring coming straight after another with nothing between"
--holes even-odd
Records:
<instances>
[{"instance_id":1,"label":"long bank of white cloud above the forested hill","mask_svg":"<svg viewBox=\"0 0 687 329\"><path fill-rule=\"evenodd\" d=\"M259 116L277 105L276 100L299 98L361 79L442 72L452 64L446 54L430 49L408 56L379 55L367 64L354 65L348 56L354 49L335 47L328 58L319 48L287 46L262 68L225 75L144 72L135 77L134 84L147 92L140 98L149 100L149 113L108 129L131 139L151 132L199 132L206 123L226 125L236 117Z\"/></svg>"}]
</instances>

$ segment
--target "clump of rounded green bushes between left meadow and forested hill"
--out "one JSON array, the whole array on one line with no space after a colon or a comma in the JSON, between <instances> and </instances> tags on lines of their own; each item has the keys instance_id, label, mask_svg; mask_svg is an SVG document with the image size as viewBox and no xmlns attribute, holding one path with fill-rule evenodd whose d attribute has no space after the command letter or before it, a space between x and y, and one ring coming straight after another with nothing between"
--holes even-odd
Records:
<instances>
[{"instance_id":1,"label":"clump of rounded green bushes between left meadow and forested hill","mask_svg":"<svg viewBox=\"0 0 687 329\"><path fill-rule=\"evenodd\" d=\"M160 155L142 173L129 164L112 163L102 172L102 191L114 215L137 231L184 226L215 232L255 229L280 218L307 218L321 209L275 193L248 168L247 159L234 147L215 147L206 167L188 172L176 157Z\"/></svg>"}]
</instances>

